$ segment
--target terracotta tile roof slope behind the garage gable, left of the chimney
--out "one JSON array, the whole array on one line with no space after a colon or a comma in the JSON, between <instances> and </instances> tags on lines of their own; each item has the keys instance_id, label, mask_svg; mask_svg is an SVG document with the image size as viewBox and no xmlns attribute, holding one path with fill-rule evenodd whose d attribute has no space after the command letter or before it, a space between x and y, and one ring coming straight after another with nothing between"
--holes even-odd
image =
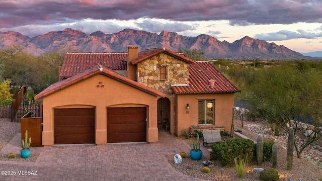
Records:
<instances>
[{"instance_id":1,"label":"terracotta tile roof slope behind the garage gable, left of the chimney","mask_svg":"<svg viewBox=\"0 0 322 181\"><path fill-rule=\"evenodd\" d=\"M67 53L59 74L61 78L71 77L94 65L125 70L126 61L127 53Z\"/></svg>"}]
</instances>

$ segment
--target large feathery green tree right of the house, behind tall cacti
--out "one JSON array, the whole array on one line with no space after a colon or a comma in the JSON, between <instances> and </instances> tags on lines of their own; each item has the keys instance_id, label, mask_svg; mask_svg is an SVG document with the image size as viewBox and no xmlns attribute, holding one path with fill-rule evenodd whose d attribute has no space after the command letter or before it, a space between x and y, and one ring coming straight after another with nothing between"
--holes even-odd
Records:
<instances>
[{"instance_id":1,"label":"large feathery green tree right of the house, behind tall cacti","mask_svg":"<svg viewBox=\"0 0 322 181\"><path fill-rule=\"evenodd\" d=\"M302 151L322 136L321 72L312 68L301 70L296 63L289 62L250 73L254 76L249 76L253 80L248 81L247 97L251 109L260 118L276 123L286 132L293 126L294 134L300 122L313 126L308 137L294 139L297 157L301 158ZM300 144L299 139L304 144Z\"/></svg>"}]
</instances>

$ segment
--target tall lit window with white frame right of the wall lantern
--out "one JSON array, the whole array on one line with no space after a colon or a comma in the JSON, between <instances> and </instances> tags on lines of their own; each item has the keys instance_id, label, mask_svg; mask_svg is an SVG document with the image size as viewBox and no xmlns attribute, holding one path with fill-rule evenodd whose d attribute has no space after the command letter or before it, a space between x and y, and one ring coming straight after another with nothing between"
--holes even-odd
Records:
<instances>
[{"instance_id":1,"label":"tall lit window with white frame right of the wall lantern","mask_svg":"<svg viewBox=\"0 0 322 181\"><path fill-rule=\"evenodd\" d=\"M199 100L198 101L198 124L212 125L213 124L213 106L214 100Z\"/></svg>"}]
</instances>

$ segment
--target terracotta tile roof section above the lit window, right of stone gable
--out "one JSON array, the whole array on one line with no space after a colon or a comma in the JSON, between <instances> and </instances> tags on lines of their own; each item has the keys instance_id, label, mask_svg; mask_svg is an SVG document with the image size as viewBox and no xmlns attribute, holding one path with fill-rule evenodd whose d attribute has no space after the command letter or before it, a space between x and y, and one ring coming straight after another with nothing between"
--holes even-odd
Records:
<instances>
[{"instance_id":1,"label":"terracotta tile roof section above the lit window, right of stone gable","mask_svg":"<svg viewBox=\"0 0 322 181\"><path fill-rule=\"evenodd\" d=\"M209 80L214 80L211 86ZM172 86L174 94L238 93L240 90L208 61L189 65L189 85Z\"/></svg>"}]
</instances>

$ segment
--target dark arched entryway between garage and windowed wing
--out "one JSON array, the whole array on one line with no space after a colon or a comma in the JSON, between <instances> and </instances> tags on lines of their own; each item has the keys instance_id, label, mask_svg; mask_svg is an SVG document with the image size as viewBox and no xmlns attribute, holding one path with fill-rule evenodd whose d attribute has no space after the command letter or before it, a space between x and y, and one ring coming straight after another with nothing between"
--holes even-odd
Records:
<instances>
[{"instance_id":1,"label":"dark arched entryway between garage and windowed wing","mask_svg":"<svg viewBox=\"0 0 322 181\"><path fill-rule=\"evenodd\" d=\"M159 98L157 100L157 128L163 128L170 132L170 100L168 98Z\"/></svg>"}]
</instances>

